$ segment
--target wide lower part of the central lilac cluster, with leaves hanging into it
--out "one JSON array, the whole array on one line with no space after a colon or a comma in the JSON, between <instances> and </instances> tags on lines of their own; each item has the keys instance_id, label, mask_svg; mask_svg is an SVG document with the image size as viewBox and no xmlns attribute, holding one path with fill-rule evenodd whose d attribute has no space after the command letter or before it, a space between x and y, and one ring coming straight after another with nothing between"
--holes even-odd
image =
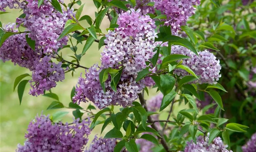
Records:
<instances>
[{"instance_id":1,"label":"wide lower part of the central lilac cluster, with leaves hanging into it","mask_svg":"<svg viewBox=\"0 0 256 152\"><path fill-rule=\"evenodd\" d=\"M100 81L99 73L102 70L98 65L94 65L85 71L86 78L80 77L78 79L78 85L76 86L76 95L72 98L73 102L87 102L88 98L94 103L99 109L103 109L109 105L122 105L126 107L132 105L138 98L144 88L144 81L136 82L131 76L127 76L124 72L122 73L121 79L117 84L117 92L114 92L111 88L110 76L105 82L104 93Z\"/></svg>"}]
</instances>

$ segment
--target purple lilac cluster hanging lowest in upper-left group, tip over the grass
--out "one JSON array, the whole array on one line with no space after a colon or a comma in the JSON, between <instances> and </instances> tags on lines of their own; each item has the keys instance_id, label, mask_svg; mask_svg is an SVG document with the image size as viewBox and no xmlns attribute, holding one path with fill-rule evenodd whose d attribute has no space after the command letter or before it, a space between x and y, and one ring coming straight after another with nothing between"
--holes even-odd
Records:
<instances>
[{"instance_id":1,"label":"purple lilac cluster hanging lowest in upper-left group, tip over the grass","mask_svg":"<svg viewBox=\"0 0 256 152\"><path fill-rule=\"evenodd\" d=\"M52 63L48 56L43 57L33 70L32 80L30 80L32 89L29 94L33 96L44 94L45 90L48 91L55 87L56 82L64 80L65 71L61 65L61 62L59 64Z\"/></svg>"}]
</instances>

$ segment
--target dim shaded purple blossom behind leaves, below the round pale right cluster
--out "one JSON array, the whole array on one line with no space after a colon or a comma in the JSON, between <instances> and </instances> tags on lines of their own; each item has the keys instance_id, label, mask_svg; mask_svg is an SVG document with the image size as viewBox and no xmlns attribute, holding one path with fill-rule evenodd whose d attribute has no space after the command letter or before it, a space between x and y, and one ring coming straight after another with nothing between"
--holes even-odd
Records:
<instances>
[{"instance_id":1,"label":"dim shaded purple blossom behind leaves, below the round pale right cluster","mask_svg":"<svg viewBox=\"0 0 256 152\"><path fill-rule=\"evenodd\" d=\"M199 101L198 99L196 100L197 108L203 109L205 106L211 104L212 102L213 102L212 97L208 93L204 93L204 101ZM205 113L206 114L214 113L216 107L217 105L212 106Z\"/></svg>"}]
</instances>

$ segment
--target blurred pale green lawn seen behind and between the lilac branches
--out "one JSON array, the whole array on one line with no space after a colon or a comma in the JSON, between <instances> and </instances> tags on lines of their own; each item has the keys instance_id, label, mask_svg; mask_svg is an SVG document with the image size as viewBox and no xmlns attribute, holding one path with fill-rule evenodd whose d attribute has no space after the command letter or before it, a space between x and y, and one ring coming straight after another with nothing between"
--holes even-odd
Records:
<instances>
[{"instance_id":1,"label":"blurred pale green lawn seen behind and between the lilac branches","mask_svg":"<svg viewBox=\"0 0 256 152\"><path fill-rule=\"evenodd\" d=\"M92 1L84 1L85 6L84 10L82 12L82 15L89 15L94 19L94 11L97 9L95 8ZM67 2L68 3L68 2ZM77 7L77 6L76 6ZM20 10L9 10L7 9L7 14L0 15L0 21L2 24L7 24L9 22L15 22L16 17L18 17L22 12ZM82 21L81 25L84 27L89 27L86 21ZM101 23L101 29L103 33L107 33L105 30L109 27L109 21L107 17L104 18L104 20ZM73 43L76 43L76 40L73 40ZM83 44L79 44L78 53L81 53ZM87 51L87 53L81 58L80 64L86 67L90 67L91 65L95 63L100 64L100 53L103 50L103 47L101 50L98 50L98 43L94 42L91 48ZM73 52L69 49L63 49L62 50L63 58L65 60L71 61L72 58L69 57L69 55L73 55ZM52 88L52 92L56 93L59 96L60 102L62 102L64 105L68 105L69 102L71 102L70 99L70 92L73 88L73 86L76 85L78 77L80 76L80 73L83 72L84 75L84 69L78 68L76 69L76 72L74 73L74 76L72 77L71 72L67 73L65 75L65 80L62 82L59 82L55 88ZM23 100L21 105L19 104L19 99L17 95L17 89L13 91L13 83L17 76L29 73L31 74L31 71L29 71L26 68L15 66L12 62L7 61L3 63L0 61L0 151L1 152L11 152L15 151L16 146L18 143L23 144L24 139L24 133L26 133L27 126L29 122L37 115L41 114L43 112L44 114L53 114L57 110L46 110L48 105L52 101L54 101L52 98L44 97L42 95L38 97L34 97L28 94L30 85L27 84ZM28 78L28 77L27 77ZM156 95L155 89L150 89L149 97L146 95L146 99L150 98L153 95ZM83 108L87 108L88 103L82 103L81 106ZM116 106L115 109L118 111L120 107ZM174 113L176 113L178 110L183 109L184 106L181 105L178 107L178 105L174 105ZM169 108L167 108L169 109ZM167 117L167 109L166 111L162 112L161 118L165 119ZM69 114L63 119L63 121L72 121L72 110L71 109L60 109L61 111L69 111ZM94 111L96 113L97 110ZM84 114L83 117L86 117L86 114ZM90 145L90 141L93 139L95 134L98 134L100 136L100 130L102 125L98 125L95 127L95 129L91 132L91 135L89 137L89 143L87 143L87 146ZM104 136L104 134L111 129L111 126L105 129L105 131L102 133L101 136Z\"/></svg>"}]
</instances>

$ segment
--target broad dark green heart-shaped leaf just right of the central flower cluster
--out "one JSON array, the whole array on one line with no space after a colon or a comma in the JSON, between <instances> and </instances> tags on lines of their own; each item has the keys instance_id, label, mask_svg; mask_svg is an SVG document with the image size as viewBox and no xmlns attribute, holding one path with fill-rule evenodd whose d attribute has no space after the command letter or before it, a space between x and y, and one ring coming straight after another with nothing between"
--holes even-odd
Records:
<instances>
[{"instance_id":1,"label":"broad dark green heart-shaped leaf just right of the central flower cluster","mask_svg":"<svg viewBox=\"0 0 256 152\"><path fill-rule=\"evenodd\" d=\"M167 95L169 92L171 92L174 84L175 78L173 78L172 76L168 74L160 75L160 85L163 91L163 95Z\"/></svg>"}]
</instances>

